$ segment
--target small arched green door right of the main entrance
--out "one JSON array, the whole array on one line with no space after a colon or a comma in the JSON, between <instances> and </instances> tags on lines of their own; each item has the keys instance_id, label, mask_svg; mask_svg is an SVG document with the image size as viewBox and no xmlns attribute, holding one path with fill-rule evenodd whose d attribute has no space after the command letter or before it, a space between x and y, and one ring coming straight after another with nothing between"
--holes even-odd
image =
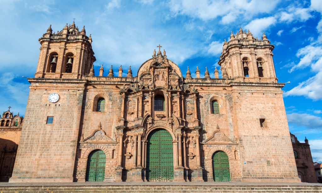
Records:
<instances>
[{"instance_id":1,"label":"small arched green door right of the main entrance","mask_svg":"<svg viewBox=\"0 0 322 193\"><path fill-rule=\"evenodd\" d=\"M213 154L213 179L215 181L230 181L228 156L225 152L218 151Z\"/></svg>"}]
</instances>

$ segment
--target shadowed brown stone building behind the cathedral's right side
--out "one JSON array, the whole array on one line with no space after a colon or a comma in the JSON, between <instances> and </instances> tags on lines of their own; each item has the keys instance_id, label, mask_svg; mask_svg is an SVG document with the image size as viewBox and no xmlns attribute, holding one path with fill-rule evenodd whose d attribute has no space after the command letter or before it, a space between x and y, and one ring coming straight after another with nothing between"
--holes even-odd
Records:
<instances>
[{"instance_id":1,"label":"shadowed brown stone building behind the cathedral's right side","mask_svg":"<svg viewBox=\"0 0 322 193\"><path fill-rule=\"evenodd\" d=\"M305 137L305 143L300 143L295 135L290 135L296 168L298 170L298 177L301 179L302 182L317 183L317 176L315 173L311 149L310 145L308 144L308 140Z\"/></svg>"}]
</instances>

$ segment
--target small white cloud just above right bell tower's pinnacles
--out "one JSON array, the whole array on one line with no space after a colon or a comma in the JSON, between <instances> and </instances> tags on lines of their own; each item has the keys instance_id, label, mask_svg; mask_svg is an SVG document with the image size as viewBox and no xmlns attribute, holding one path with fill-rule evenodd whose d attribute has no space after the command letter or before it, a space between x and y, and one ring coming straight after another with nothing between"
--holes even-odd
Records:
<instances>
[{"instance_id":1,"label":"small white cloud just above right bell tower's pinnacles","mask_svg":"<svg viewBox=\"0 0 322 193\"><path fill-rule=\"evenodd\" d=\"M276 19L275 17L264 17L260 19L254 19L250 23L248 23L244 28L249 29L251 33L256 36L262 36L262 32L269 28L271 25L275 25Z\"/></svg>"}]
</instances>

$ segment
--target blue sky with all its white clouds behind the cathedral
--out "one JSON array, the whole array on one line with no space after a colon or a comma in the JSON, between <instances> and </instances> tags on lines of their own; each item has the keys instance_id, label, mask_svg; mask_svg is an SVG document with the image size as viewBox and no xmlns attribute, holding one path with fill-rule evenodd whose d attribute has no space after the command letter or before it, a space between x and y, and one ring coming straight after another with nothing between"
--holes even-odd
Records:
<instances>
[{"instance_id":1,"label":"blue sky with all its white clouds behind the cathedral","mask_svg":"<svg viewBox=\"0 0 322 193\"><path fill-rule=\"evenodd\" d=\"M105 74L122 65L133 74L161 44L183 74L198 66L214 77L223 41L239 24L275 45L274 64L283 88L290 132L311 144L314 161L322 162L322 1L282 0L0 0L0 109L24 115L29 83L36 71L38 39L52 24L62 30L73 18L92 34L97 61ZM218 68L219 69L219 68ZM220 73L221 74L221 73Z\"/></svg>"}]
</instances>

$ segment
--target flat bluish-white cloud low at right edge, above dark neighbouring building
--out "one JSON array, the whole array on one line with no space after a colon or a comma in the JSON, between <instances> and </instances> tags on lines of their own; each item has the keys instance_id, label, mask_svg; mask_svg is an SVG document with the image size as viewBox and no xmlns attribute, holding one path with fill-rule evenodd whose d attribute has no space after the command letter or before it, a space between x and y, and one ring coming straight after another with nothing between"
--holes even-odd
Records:
<instances>
[{"instance_id":1,"label":"flat bluish-white cloud low at right edge, above dark neighbouring building","mask_svg":"<svg viewBox=\"0 0 322 193\"><path fill-rule=\"evenodd\" d=\"M315 115L309 115L306 113L291 113L287 114L287 121L289 124L295 124L297 126L304 126L308 129L321 129L322 119Z\"/></svg>"}]
</instances>

